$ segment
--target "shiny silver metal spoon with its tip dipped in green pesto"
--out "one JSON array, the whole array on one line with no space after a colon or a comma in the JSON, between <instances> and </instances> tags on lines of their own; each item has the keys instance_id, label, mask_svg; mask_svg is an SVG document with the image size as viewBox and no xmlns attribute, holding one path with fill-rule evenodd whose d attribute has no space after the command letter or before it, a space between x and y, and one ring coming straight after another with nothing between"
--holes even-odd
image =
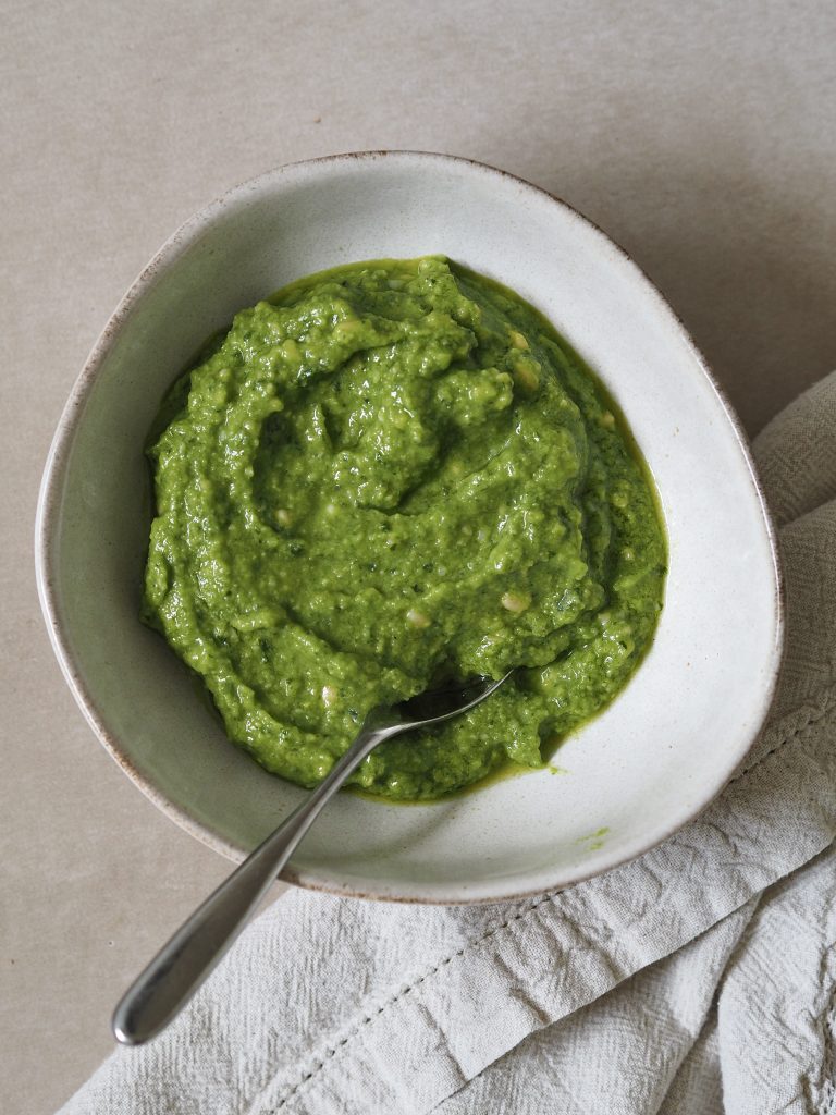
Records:
<instances>
[{"instance_id":1,"label":"shiny silver metal spoon with its tip dipped in green pesto","mask_svg":"<svg viewBox=\"0 0 836 1115\"><path fill-rule=\"evenodd\" d=\"M200 905L132 983L114 1011L113 1030L125 1045L142 1045L188 1002L255 911L297 845L348 776L378 744L430 728L482 704L507 681L480 678L465 689L425 692L366 717L360 735L330 774Z\"/></svg>"}]
</instances>

